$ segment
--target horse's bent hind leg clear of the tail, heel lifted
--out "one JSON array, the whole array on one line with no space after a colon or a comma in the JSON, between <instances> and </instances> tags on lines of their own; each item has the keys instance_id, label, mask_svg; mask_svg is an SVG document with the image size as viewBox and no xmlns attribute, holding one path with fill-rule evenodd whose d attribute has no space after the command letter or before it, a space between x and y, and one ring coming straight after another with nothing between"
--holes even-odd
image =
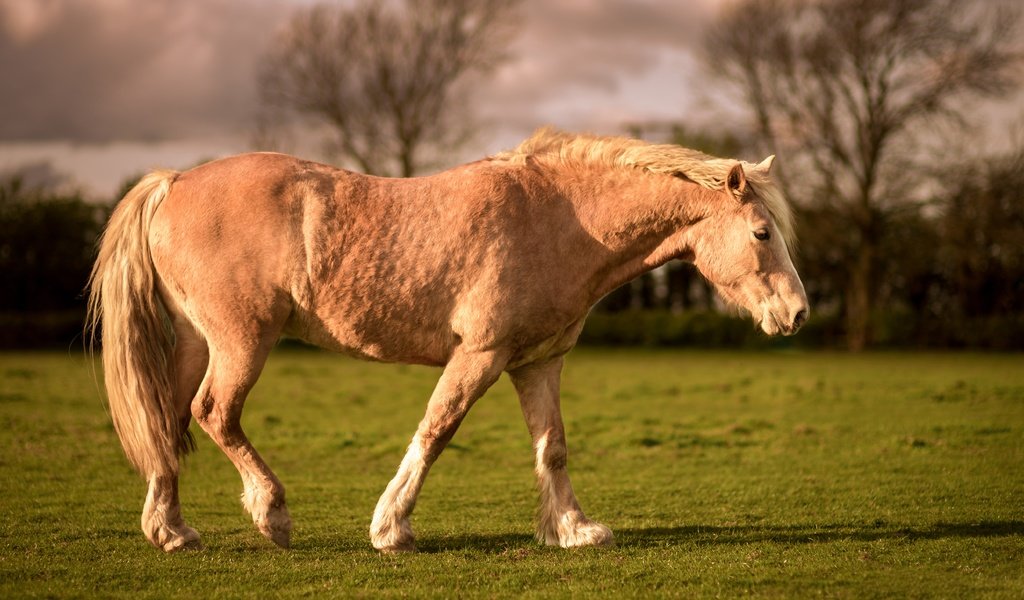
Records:
<instances>
[{"instance_id":1,"label":"horse's bent hind leg clear of the tail, heel lifted","mask_svg":"<svg viewBox=\"0 0 1024 600\"><path fill-rule=\"evenodd\" d=\"M242 505L260 533L288 548L292 519L285 505L285 487L242 430L242 406L278 339L264 331L250 343L210 340L210 366L191 403L191 414L204 431L239 470ZM258 341L257 341L258 340ZM255 343L252 343L255 341Z\"/></svg>"}]
</instances>

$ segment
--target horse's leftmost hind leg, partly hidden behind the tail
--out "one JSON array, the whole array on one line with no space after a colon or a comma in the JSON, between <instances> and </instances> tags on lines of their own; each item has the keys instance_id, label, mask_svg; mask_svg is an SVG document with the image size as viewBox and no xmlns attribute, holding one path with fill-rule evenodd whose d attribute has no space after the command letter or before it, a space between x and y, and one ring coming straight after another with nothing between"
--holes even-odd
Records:
<instances>
[{"instance_id":1,"label":"horse's leftmost hind leg, partly hidden behind the tail","mask_svg":"<svg viewBox=\"0 0 1024 600\"><path fill-rule=\"evenodd\" d=\"M190 324L175 320L174 335L174 403L181 419L181 431L187 431L191 420L189 405L206 373L209 354L206 342ZM202 547L199 533L181 518L178 470L175 465L166 473L150 474L150 490L142 509L142 531L154 546L166 552Z\"/></svg>"}]
</instances>

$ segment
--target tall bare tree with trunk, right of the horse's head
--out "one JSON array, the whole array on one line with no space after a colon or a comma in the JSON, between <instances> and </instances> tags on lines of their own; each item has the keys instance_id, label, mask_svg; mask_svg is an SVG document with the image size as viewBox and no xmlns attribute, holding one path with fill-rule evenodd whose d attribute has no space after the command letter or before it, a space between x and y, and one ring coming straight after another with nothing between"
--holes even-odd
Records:
<instances>
[{"instance_id":1,"label":"tall bare tree with trunk, right of the horse's head","mask_svg":"<svg viewBox=\"0 0 1024 600\"><path fill-rule=\"evenodd\" d=\"M1017 17L995 2L742 0L706 41L762 143L785 155L790 194L833 220L853 349L870 341L883 240L925 173L914 148L964 123L968 100L1013 89Z\"/></svg>"}]
</instances>

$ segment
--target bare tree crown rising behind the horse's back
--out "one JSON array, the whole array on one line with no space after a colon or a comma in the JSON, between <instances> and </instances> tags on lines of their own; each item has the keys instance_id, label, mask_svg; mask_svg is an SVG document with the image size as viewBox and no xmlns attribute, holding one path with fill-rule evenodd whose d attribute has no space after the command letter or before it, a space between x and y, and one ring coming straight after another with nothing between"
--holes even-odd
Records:
<instances>
[{"instance_id":1,"label":"bare tree crown rising behind the horse's back","mask_svg":"<svg viewBox=\"0 0 1024 600\"><path fill-rule=\"evenodd\" d=\"M410 176L464 143L472 76L505 56L519 0L358 0L296 11L259 77L265 115L331 132L367 173Z\"/></svg>"}]
</instances>

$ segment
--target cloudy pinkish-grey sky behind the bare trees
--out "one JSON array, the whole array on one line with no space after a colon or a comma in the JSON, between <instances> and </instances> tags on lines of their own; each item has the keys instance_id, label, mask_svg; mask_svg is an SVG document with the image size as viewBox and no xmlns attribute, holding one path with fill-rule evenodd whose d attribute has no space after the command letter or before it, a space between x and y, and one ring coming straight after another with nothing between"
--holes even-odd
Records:
<instances>
[{"instance_id":1,"label":"cloudy pinkish-grey sky behind the bare trees","mask_svg":"<svg viewBox=\"0 0 1024 600\"><path fill-rule=\"evenodd\" d=\"M261 57L311 1L0 0L0 172L34 164L105 200L145 170L252 149ZM742 114L707 85L698 57L725 2L525 0L509 59L475 98L480 131L456 162L548 124L736 129Z\"/></svg>"}]
</instances>

